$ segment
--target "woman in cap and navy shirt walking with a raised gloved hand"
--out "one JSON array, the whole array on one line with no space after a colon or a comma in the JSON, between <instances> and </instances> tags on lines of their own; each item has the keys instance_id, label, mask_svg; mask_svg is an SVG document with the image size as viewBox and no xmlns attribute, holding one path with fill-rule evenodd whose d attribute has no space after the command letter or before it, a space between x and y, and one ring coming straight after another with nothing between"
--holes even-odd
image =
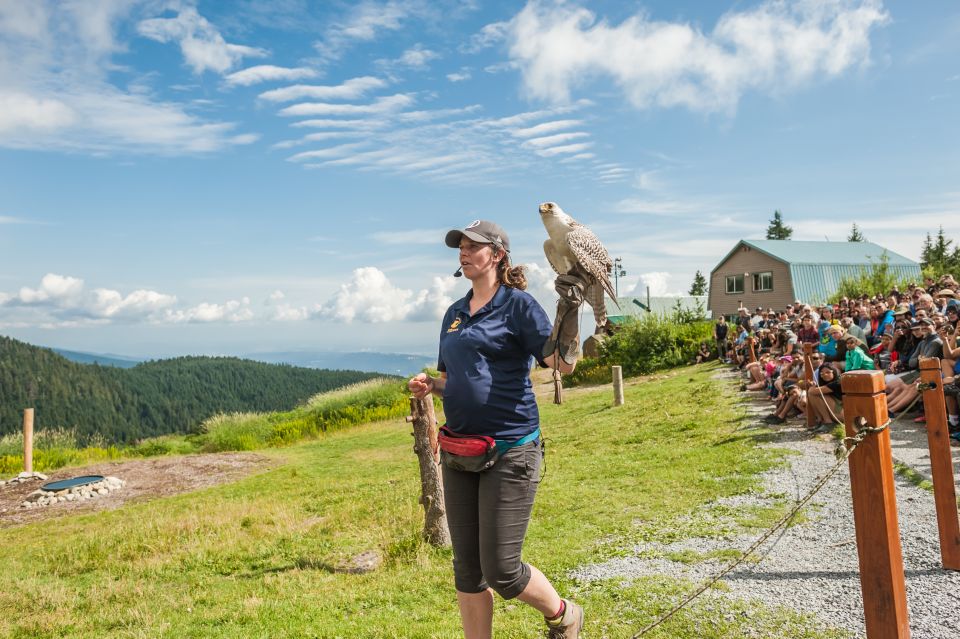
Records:
<instances>
[{"instance_id":1,"label":"woman in cap and navy shirt walking with a raised gloved hand","mask_svg":"<svg viewBox=\"0 0 960 639\"><path fill-rule=\"evenodd\" d=\"M492 636L496 592L539 610L550 637L576 639L583 608L561 599L543 573L520 560L520 552L543 459L530 367L535 358L561 373L573 371L583 282L557 278L560 321L551 331L543 308L524 292L523 267L510 265L510 240L502 228L477 220L447 233L446 244L460 249L458 274L472 287L443 318L440 376L421 373L408 387L419 398L443 398L444 501L464 636Z\"/></svg>"}]
</instances>

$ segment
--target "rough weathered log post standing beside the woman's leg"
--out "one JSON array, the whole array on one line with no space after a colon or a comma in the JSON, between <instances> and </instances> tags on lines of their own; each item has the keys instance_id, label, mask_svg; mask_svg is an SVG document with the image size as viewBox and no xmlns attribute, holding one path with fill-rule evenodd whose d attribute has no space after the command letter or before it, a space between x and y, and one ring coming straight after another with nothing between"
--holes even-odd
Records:
<instances>
[{"instance_id":1,"label":"rough weathered log post standing beside the woman's leg","mask_svg":"<svg viewBox=\"0 0 960 639\"><path fill-rule=\"evenodd\" d=\"M433 412L433 398L410 398L410 416L413 422L413 452L420 462L420 503L423 504L423 538L433 546L450 545L447 510L443 503L443 476L440 474L437 448L437 418Z\"/></svg>"}]
</instances>

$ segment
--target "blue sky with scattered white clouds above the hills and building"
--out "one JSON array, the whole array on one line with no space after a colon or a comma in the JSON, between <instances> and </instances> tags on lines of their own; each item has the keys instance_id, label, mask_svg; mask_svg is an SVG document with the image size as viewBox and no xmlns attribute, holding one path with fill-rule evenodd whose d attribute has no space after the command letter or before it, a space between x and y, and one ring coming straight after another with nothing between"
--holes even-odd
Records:
<instances>
[{"instance_id":1,"label":"blue sky with scattered white clouds above the hills and building","mask_svg":"<svg viewBox=\"0 0 960 639\"><path fill-rule=\"evenodd\" d=\"M450 228L553 305L537 205L681 293L794 239L960 239L960 6L0 0L0 333L432 353Z\"/></svg>"}]
</instances>

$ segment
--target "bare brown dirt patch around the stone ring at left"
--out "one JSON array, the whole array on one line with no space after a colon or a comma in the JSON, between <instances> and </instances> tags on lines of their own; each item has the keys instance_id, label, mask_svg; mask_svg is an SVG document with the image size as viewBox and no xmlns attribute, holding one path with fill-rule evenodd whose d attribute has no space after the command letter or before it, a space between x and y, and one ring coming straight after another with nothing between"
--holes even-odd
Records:
<instances>
[{"instance_id":1,"label":"bare brown dirt patch around the stone ring at left","mask_svg":"<svg viewBox=\"0 0 960 639\"><path fill-rule=\"evenodd\" d=\"M46 482L39 480L0 486L0 528L34 521L113 510L131 502L146 501L235 481L276 465L276 460L254 453L215 453L155 457L124 462L106 462L46 473L47 481L78 475L119 477L126 485L109 495L78 502L54 504L45 508L20 508L24 498Z\"/></svg>"}]
</instances>

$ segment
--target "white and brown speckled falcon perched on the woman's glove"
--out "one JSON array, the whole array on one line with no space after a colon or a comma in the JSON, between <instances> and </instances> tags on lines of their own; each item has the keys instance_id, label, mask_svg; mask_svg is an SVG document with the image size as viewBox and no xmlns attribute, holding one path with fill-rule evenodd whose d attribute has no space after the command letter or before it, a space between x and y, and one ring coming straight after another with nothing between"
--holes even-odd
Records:
<instances>
[{"instance_id":1,"label":"white and brown speckled falcon perched on the woman's glove","mask_svg":"<svg viewBox=\"0 0 960 639\"><path fill-rule=\"evenodd\" d=\"M574 274L583 278L587 287L583 297L593 308L595 333L607 330L607 307L603 301L606 291L617 304L617 294L610 283L613 260L593 231L564 213L555 202L540 205L540 219L549 238L543 243L543 253L557 275Z\"/></svg>"}]
</instances>

